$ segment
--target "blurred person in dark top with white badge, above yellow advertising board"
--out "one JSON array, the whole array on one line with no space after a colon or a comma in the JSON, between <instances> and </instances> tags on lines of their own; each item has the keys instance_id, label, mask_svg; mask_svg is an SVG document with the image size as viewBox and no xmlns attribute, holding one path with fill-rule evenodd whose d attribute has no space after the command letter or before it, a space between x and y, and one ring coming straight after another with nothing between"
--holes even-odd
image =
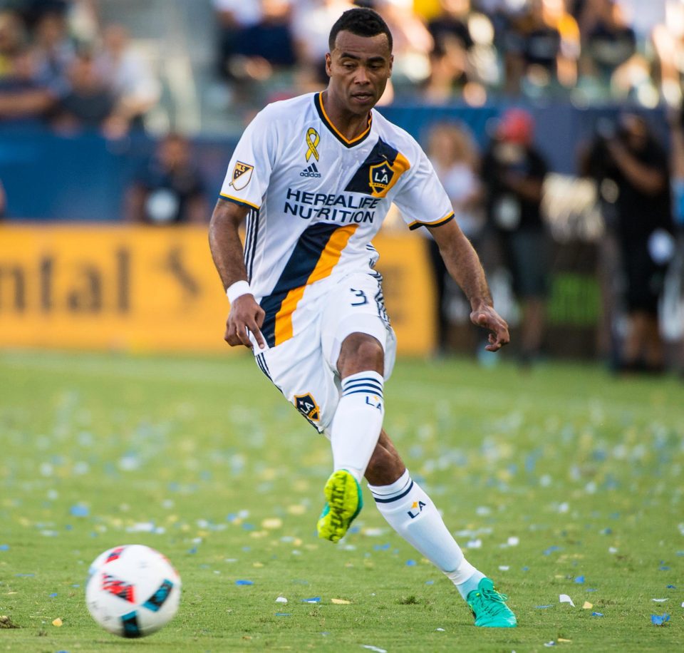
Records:
<instances>
[{"instance_id":1,"label":"blurred person in dark top with white badge, above yellow advertising board","mask_svg":"<svg viewBox=\"0 0 684 653\"><path fill-rule=\"evenodd\" d=\"M148 225L173 225L209 219L204 182L192 164L190 143L167 135L126 196L126 220Z\"/></svg>"}]
</instances>

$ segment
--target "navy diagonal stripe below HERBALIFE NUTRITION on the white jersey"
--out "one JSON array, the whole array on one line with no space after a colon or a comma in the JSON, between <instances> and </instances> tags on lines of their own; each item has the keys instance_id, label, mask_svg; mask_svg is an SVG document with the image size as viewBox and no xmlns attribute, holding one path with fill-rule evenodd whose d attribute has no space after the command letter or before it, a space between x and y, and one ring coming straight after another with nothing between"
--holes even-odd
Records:
<instances>
[{"instance_id":1,"label":"navy diagonal stripe below HERBALIFE NUTRITION on the white jersey","mask_svg":"<svg viewBox=\"0 0 684 653\"><path fill-rule=\"evenodd\" d=\"M339 225L329 225L325 222L307 227L297 240L271 294L261 299L261 308L266 312L261 334L269 346L273 347L276 344L276 315L287 294L294 288L306 285L318 259L321 258L323 250L338 227Z\"/></svg>"}]
</instances>

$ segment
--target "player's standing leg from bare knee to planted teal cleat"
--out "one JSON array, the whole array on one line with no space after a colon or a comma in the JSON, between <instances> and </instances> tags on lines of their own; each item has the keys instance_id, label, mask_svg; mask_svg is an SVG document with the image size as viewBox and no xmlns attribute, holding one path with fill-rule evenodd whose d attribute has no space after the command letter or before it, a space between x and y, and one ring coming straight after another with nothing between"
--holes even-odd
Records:
<instances>
[{"instance_id":1,"label":"player's standing leg from bare knee to planted teal cleat","mask_svg":"<svg viewBox=\"0 0 684 653\"><path fill-rule=\"evenodd\" d=\"M368 488L385 520L454 583L476 626L512 627L516 619L494 583L465 559L435 505L408 473L385 431L366 469Z\"/></svg>"}]
</instances>

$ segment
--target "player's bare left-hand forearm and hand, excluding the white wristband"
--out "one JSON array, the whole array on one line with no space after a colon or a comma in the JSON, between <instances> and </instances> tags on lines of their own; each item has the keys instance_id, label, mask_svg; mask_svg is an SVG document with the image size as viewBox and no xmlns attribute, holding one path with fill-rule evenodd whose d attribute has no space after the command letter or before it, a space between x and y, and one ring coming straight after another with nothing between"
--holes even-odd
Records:
<instances>
[{"instance_id":1,"label":"player's bare left-hand forearm and hand, excluding the white wristband","mask_svg":"<svg viewBox=\"0 0 684 653\"><path fill-rule=\"evenodd\" d=\"M224 289L228 289L236 282L247 281L242 241L239 236L239 227L247 217L247 212L247 207L219 200L209 223L209 247ZM252 333L259 347L263 349L263 323L264 309L257 304L254 295L242 294L230 305L224 339L232 347L242 344L252 349L252 341L249 339L249 333Z\"/></svg>"}]
</instances>

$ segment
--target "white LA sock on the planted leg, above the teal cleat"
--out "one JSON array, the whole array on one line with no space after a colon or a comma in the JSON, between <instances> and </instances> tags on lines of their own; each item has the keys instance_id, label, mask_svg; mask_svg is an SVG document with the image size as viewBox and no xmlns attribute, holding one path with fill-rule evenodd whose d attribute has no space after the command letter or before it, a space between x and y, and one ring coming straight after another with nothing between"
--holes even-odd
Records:
<instances>
[{"instance_id":1,"label":"white LA sock on the planted leg, above the teal cleat","mask_svg":"<svg viewBox=\"0 0 684 653\"><path fill-rule=\"evenodd\" d=\"M474 575L484 574L468 562L430 497L406 470L391 485L368 485L375 505L389 525L435 567L452 580L457 589Z\"/></svg>"}]
</instances>

